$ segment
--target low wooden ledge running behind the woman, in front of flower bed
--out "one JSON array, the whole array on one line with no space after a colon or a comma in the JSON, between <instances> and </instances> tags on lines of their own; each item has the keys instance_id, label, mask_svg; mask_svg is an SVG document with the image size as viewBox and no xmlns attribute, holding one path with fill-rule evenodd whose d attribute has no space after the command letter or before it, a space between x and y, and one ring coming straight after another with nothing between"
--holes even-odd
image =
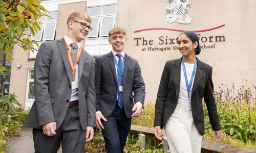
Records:
<instances>
[{"instance_id":1,"label":"low wooden ledge running behind the woman, in front of flower bed","mask_svg":"<svg viewBox=\"0 0 256 153\"><path fill-rule=\"evenodd\" d=\"M136 133L136 132L142 132L142 133L148 133L151 135L155 135L154 133L154 127L146 127L146 126L139 126L139 125L132 125L131 126L131 132ZM164 130L162 130L162 135L163 137L165 136ZM218 143L214 141L208 141L208 140L202 140L202 148L211 150L211 151L216 151L220 153L251 153L255 152L256 150L251 150L251 149L246 149L243 147L238 147L238 146L233 146L229 144L223 144L223 143Z\"/></svg>"}]
</instances>

